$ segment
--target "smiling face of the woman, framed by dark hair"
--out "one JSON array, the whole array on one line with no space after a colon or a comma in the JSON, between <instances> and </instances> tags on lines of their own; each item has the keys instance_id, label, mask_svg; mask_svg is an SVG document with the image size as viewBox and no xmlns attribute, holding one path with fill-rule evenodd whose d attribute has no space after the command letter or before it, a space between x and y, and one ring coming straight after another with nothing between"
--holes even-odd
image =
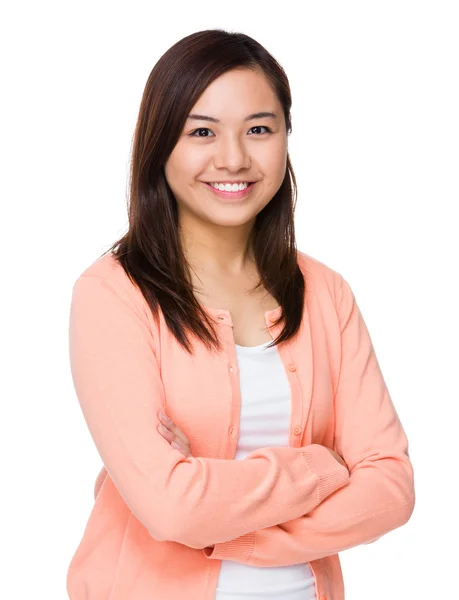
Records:
<instances>
[{"instance_id":1,"label":"smiling face of the woman, framed by dark hair","mask_svg":"<svg viewBox=\"0 0 459 600\"><path fill-rule=\"evenodd\" d=\"M274 113L246 120L259 112ZM213 81L187 119L165 165L177 200L181 226L199 221L249 231L256 215L282 184L287 165L287 132L282 106L265 76L234 69ZM242 198L221 198L204 182L256 182ZM240 233L240 232L239 232Z\"/></svg>"}]
</instances>

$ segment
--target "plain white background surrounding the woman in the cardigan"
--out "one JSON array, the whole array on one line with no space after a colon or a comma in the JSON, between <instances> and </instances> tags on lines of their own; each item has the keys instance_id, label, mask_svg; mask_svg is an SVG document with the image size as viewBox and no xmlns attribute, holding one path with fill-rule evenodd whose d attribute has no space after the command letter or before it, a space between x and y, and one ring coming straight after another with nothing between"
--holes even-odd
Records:
<instances>
[{"instance_id":1,"label":"plain white background surrounding the woman in the cardigan","mask_svg":"<svg viewBox=\"0 0 459 600\"><path fill-rule=\"evenodd\" d=\"M340 554L346 598L459 597L458 10L441 0L3 8L2 597L67 598L101 467L70 375L72 285L125 231L151 69L214 27L254 37L287 72L297 245L349 281L410 442L414 513Z\"/></svg>"}]
</instances>

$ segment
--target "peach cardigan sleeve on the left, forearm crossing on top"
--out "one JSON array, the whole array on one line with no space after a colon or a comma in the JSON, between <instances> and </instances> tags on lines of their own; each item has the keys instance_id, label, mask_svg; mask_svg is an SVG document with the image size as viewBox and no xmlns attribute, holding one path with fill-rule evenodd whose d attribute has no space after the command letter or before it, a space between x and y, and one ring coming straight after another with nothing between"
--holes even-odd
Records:
<instances>
[{"instance_id":1,"label":"peach cardigan sleeve on the left, forearm crossing on top","mask_svg":"<svg viewBox=\"0 0 459 600\"><path fill-rule=\"evenodd\" d=\"M202 549L299 517L348 483L348 469L318 444L261 448L242 461L184 457L157 431L165 391L156 352L137 296L116 280L77 279L76 395L108 474L153 538Z\"/></svg>"}]
</instances>

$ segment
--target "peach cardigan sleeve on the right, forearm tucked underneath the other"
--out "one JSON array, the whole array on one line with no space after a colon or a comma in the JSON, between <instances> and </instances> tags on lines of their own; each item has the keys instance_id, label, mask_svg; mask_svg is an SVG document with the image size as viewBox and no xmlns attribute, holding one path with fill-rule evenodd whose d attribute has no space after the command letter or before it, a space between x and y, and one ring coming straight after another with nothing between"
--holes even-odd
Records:
<instances>
[{"instance_id":1,"label":"peach cardigan sleeve on the right, forearm tucked underneath the other","mask_svg":"<svg viewBox=\"0 0 459 600\"><path fill-rule=\"evenodd\" d=\"M262 567L309 562L374 542L410 518L415 489L407 436L355 296L342 278L337 308L342 349L334 450L349 467L348 485L298 518L203 548L207 558Z\"/></svg>"}]
</instances>

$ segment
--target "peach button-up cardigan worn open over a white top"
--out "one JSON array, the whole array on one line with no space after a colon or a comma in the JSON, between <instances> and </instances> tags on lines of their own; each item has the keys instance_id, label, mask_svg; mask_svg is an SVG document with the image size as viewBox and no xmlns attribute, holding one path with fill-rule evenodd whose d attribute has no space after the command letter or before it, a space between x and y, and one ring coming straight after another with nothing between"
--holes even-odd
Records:
<instances>
[{"instance_id":1,"label":"peach button-up cardigan worn open over a white top","mask_svg":"<svg viewBox=\"0 0 459 600\"><path fill-rule=\"evenodd\" d=\"M223 351L196 343L189 355L110 253L80 274L71 373L107 476L68 568L71 600L213 600L221 559L309 562L318 600L344 600L338 552L408 521L408 440L354 294L312 256L298 251L298 264L302 325L278 347L289 445L244 460L233 460L241 397L230 312L206 308ZM265 313L273 338L280 310ZM187 434L192 457L159 434L159 408Z\"/></svg>"}]
</instances>

